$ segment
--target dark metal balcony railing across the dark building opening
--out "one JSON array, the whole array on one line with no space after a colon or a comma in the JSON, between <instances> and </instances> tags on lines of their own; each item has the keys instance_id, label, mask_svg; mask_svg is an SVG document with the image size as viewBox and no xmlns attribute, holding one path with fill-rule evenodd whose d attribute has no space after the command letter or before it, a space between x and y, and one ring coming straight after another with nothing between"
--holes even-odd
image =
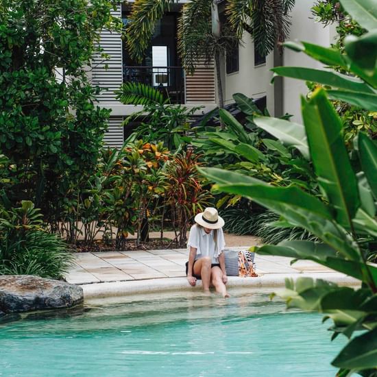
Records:
<instances>
[{"instance_id":1,"label":"dark metal balcony railing across the dark building opening","mask_svg":"<svg viewBox=\"0 0 377 377\"><path fill-rule=\"evenodd\" d=\"M140 82L158 88L171 104L184 104L182 66L123 66L123 82Z\"/></svg>"}]
</instances>

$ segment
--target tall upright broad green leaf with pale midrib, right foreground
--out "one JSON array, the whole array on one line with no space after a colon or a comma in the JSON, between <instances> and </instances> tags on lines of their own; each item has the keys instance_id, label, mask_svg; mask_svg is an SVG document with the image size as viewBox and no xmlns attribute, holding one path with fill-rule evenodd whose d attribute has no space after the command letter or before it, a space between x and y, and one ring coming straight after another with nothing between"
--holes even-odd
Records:
<instances>
[{"instance_id":1,"label":"tall upright broad green leaf with pale midrib, right foreground","mask_svg":"<svg viewBox=\"0 0 377 377\"><path fill-rule=\"evenodd\" d=\"M337 221L351 228L360 204L356 175L343 142L341 121L323 89L309 102L302 99L302 115L319 184L335 209Z\"/></svg>"}]
</instances>

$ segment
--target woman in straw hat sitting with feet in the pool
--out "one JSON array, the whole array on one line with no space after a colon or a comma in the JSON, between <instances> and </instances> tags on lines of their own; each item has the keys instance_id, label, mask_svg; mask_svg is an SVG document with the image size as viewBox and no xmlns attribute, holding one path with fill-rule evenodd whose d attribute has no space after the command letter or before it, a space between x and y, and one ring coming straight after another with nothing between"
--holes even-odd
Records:
<instances>
[{"instance_id":1,"label":"woman in straw hat sitting with feet in the pool","mask_svg":"<svg viewBox=\"0 0 377 377\"><path fill-rule=\"evenodd\" d=\"M230 297L226 291L228 277L225 270L223 250L225 240L222 227L223 219L216 208L206 208L195 216L195 225L190 230L187 248L189 261L186 275L194 287L197 279L202 280L204 293L210 292L210 284L223 297Z\"/></svg>"}]
</instances>

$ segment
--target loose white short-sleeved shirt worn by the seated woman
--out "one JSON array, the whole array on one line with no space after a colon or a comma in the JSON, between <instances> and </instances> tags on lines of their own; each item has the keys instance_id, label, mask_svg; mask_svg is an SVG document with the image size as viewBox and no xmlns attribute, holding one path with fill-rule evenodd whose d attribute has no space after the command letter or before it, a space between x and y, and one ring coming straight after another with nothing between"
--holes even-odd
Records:
<instances>
[{"instance_id":1,"label":"loose white short-sleeved shirt worn by the seated woman","mask_svg":"<svg viewBox=\"0 0 377 377\"><path fill-rule=\"evenodd\" d=\"M215 245L215 241L213 240L213 230L207 234L204 228L197 226L197 224L191 227L187 249L190 252L190 247L196 248L195 260L209 256L212 258L212 263L219 263L219 255L225 249L225 239L222 228L217 229L216 244L217 245Z\"/></svg>"}]
</instances>

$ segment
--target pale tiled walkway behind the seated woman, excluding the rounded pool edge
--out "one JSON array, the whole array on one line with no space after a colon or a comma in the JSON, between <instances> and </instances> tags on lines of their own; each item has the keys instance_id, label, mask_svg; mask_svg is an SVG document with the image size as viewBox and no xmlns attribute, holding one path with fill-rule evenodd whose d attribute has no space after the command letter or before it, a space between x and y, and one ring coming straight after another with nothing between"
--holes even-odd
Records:
<instances>
[{"instance_id":1,"label":"pale tiled walkway behind the seated woman, excluding the rounded pool edge","mask_svg":"<svg viewBox=\"0 0 377 377\"><path fill-rule=\"evenodd\" d=\"M232 250L247 248L232 247ZM186 249L80 253L76 254L75 266L66 274L66 280L74 284L91 284L184 277L187 256ZM255 263L260 276L332 272L308 260L290 265L291 258L282 256L256 255Z\"/></svg>"}]
</instances>

